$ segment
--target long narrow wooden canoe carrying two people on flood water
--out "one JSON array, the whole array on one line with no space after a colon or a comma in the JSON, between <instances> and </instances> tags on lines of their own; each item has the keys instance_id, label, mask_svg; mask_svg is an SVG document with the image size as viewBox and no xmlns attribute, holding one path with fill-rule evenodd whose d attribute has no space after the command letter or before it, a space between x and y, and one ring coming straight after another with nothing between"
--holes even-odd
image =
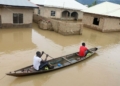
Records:
<instances>
[{"instance_id":1,"label":"long narrow wooden canoe carrying two people on flood water","mask_svg":"<svg viewBox=\"0 0 120 86\"><path fill-rule=\"evenodd\" d=\"M42 70L37 71L33 68L33 65L30 65L30 66L15 70L14 72L9 72L9 73L7 73L7 75L20 77L20 76L41 74L41 73L46 73L46 72L54 71L57 69L61 69L61 68L64 68L64 67L70 66L72 64L81 62L81 61L91 57L92 55L94 55L96 53L97 48L91 48L89 50L92 53L89 53L89 55L86 55L86 57L80 58L77 55L78 52L75 52L75 53L72 53L69 55L65 55L65 56L55 58L55 59L48 60L48 62L54 66L54 68L52 68L52 69L48 69L48 70L42 69Z\"/></svg>"}]
</instances>

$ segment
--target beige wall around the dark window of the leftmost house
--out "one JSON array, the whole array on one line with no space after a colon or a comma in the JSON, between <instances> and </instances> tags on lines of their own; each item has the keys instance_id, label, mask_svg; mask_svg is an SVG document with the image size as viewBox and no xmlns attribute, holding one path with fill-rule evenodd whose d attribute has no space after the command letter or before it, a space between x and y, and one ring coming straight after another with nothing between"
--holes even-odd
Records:
<instances>
[{"instance_id":1,"label":"beige wall around the dark window of the leftmost house","mask_svg":"<svg viewBox=\"0 0 120 86\"><path fill-rule=\"evenodd\" d=\"M1 22L13 24L13 13L23 14L23 24L30 24L33 20L33 9L32 8L12 8L4 7L0 10Z\"/></svg>"}]
</instances>

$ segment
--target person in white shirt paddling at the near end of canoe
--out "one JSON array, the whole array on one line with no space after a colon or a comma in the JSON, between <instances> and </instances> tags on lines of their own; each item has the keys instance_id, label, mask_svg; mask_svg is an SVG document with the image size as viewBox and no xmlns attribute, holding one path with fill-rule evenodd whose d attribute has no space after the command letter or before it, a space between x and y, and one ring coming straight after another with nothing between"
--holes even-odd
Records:
<instances>
[{"instance_id":1,"label":"person in white shirt paddling at the near end of canoe","mask_svg":"<svg viewBox=\"0 0 120 86\"><path fill-rule=\"evenodd\" d=\"M36 55L33 58L33 67L35 70L40 70L45 66L48 66L48 62L47 62L47 57L48 55L46 55L45 60L42 60L42 55L44 54L44 52L37 51Z\"/></svg>"}]
</instances>

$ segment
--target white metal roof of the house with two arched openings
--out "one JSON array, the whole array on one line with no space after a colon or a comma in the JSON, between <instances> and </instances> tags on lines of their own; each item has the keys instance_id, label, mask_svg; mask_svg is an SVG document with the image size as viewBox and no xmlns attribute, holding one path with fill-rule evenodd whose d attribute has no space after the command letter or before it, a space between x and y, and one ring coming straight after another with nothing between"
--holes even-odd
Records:
<instances>
[{"instance_id":1,"label":"white metal roof of the house with two arched openings","mask_svg":"<svg viewBox=\"0 0 120 86\"><path fill-rule=\"evenodd\" d=\"M31 2L48 7L58 7L75 10L82 10L88 8L75 0L31 0Z\"/></svg>"}]
</instances>

